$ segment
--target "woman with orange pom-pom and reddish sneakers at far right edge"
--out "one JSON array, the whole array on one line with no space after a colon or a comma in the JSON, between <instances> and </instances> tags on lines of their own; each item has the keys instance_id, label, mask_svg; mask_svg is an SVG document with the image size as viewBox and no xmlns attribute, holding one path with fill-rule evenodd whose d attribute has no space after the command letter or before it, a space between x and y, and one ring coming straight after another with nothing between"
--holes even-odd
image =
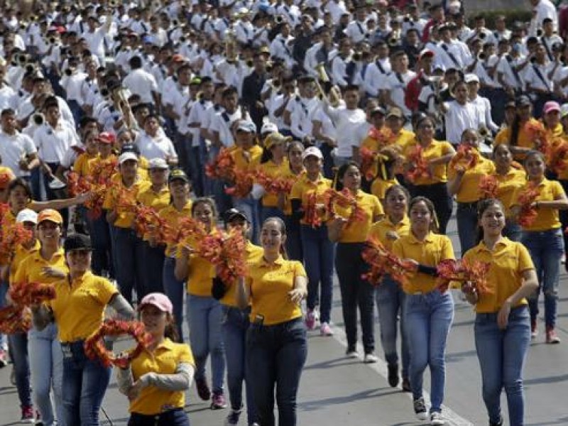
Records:
<instances>
[{"instance_id":1,"label":"woman with orange pom-pom and reddish sneakers at far right edge","mask_svg":"<svg viewBox=\"0 0 568 426\"><path fill-rule=\"evenodd\" d=\"M520 213L519 195L528 185L536 185L538 191L532 208L537 217L532 224L523 226L521 241L527 247L532 262L535 263L539 288L529 299L531 337L537 336L538 298L540 291L545 294L545 336L549 344L559 343L555 331L558 303L558 285L560 280L560 259L564 255L562 225L558 211L568 209L568 199L562 185L556 180L545 178L545 156L539 151L530 151L525 158L525 170L528 182L517 191L513 199L512 212L515 217Z\"/></svg>"}]
</instances>

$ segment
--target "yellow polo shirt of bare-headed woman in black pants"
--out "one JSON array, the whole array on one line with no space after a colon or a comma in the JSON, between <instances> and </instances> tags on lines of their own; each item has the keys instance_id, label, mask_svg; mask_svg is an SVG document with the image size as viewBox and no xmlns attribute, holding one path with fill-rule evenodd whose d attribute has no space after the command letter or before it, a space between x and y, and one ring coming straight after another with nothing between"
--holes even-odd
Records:
<instances>
[{"instance_id":1,"label":"yellow polo shirt of bare-headed woman in black pants","mask_svg":"<svg viewBox=\"0 0 568 426\"><path fill-rule=\"evenodd\" d=\"M384 213L383 206L378 198L374 195L367 194L361 190L357 191L356 195L357 207L362 210L364 219L362 221L356 220L346 224L339 237L340 243L362 243L366 241L368 230L371 229L373 221L378 216ZM353 207L339 207L334 206L335 214L338 214L345 219L349 219Z\"/></svg>"}]
</instances>

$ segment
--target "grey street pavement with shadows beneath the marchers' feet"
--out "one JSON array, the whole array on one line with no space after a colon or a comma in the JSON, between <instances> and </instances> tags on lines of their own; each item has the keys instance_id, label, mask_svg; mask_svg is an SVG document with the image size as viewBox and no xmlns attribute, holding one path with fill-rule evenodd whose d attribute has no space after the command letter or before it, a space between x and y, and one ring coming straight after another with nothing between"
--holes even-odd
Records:
<instances>
[{"instance_id":1,"label":"grey street pavement with shadows beneath the marchers' feet","mask_svg":"<svg viewBox=\"0 0 568 426\"><path fill-rule=\"evenodd\" d=\"M459 256L455 219L449 236ZM558 311L559 345L544 343L542 315L540 335L530 346L525 366L525 425L568 425L566 392L568 389L568 275L562 268ZM486 409L481 398L481 378L476 358L471 306L457 294L454 324L449 335L446 355L447 382L444 415L452 426L487 425ZM542 307L542 302L541 302ZM542 309L541 309L542 311ZM403 426L424 425L415 420L410 394L391 388L386 381L386 364L363 364L361 359L346 359L339 286L334 287L334 337L309 334L307 364L298 395L298 426ZM383 356L378 324L377 354ZM20 418L16 388L10 385L11 366L0 370L0 426L17 425ZM425 390L430 389L425 373ZM227 395L228 396L228 395ZM508 425L506 398L503 415ZM102 425L126 425L128 402L113 381L104 399ZM209 404L197 397L195 387L187 392L186 411L192 426L222 426L229 410L209 410ZM241 425L246 423L241 415ZM80 425L73 425L80 426Z\"/></svg>"}]
</instances>

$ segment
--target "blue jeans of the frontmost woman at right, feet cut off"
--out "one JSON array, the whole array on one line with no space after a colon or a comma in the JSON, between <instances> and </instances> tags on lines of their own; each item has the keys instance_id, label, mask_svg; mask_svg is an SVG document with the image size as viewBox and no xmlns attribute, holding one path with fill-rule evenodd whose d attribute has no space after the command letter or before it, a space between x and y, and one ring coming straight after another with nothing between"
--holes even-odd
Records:
<instances>
[{"instance_id":1,"label":"blue jeans of the frontmost woman at right, feet cut off","mask_svg":"<svg viewBox=\"0 0 568 426\"><path fill-rule=\"evenodd\" d=\"M501 419L501 391L505 388L510 425L523 426L523 366L530 344L530 315L526 306L511 310L507 328L499 329L497 314L477 314L475 346L484 402L489 420Z\"/></svg>"}]
</instances>

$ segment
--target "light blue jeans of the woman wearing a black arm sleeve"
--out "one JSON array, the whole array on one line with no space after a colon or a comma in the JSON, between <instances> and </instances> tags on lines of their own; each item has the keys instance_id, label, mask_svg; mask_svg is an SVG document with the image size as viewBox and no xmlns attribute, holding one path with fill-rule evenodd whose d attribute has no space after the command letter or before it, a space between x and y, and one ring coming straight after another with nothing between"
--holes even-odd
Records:
<instances>
[{"instance_id":1,"label":"light blue jeans of the woman wearing a black arm sleeve","mask_svg":"<svg viewBox=\"0 0 568 426\"><path fill-rule=\"evenodd\" d=\"M446 381L444 353L454 318L454 300L449 292L434 290L406 295L406 327L410 344L410 387L413 398L422 398L422 376L430 366L430 412L441 412Z\"/></svg>"}]
</instances>

